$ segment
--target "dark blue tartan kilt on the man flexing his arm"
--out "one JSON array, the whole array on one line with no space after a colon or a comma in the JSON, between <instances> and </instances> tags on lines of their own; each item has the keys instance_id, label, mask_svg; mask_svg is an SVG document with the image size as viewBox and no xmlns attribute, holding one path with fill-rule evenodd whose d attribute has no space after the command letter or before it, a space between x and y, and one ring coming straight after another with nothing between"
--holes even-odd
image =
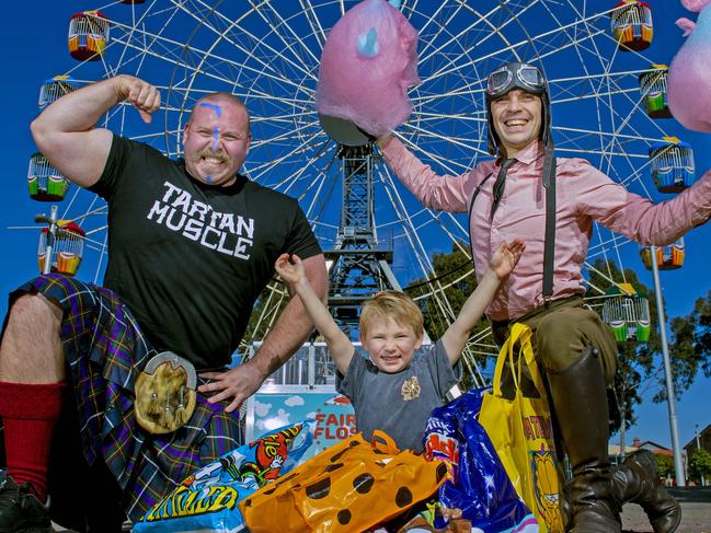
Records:
<instances>
[{"instance_id":1,"label":"dark blue tartan kilt on the man flexing his arm","mask_svg":"<svg viewBox=\"0 0 711 533\"><path fill-rule=\"evenodd\" d=\"M136 521L200 466L242 444L239 414L197 393L195 412L179 430L150 434L134 417L134 383L157 354L130 311L108 289L50 274L10 294L42 293L62 310L60 337L74 391L83 455L103 461ZM198 378L198 385L208 380ZM69 402L68 402L69 404Z\"/></svg>"}]
</instances>

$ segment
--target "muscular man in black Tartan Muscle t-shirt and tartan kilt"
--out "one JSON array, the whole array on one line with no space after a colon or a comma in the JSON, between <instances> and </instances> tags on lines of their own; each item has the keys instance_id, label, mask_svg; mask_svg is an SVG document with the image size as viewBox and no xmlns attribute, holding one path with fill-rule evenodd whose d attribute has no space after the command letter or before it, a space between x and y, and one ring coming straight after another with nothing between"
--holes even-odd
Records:
<instances>
[{"instance_id":1,"label":"muscular man in black Tartan Muscle t-shirt and tartan kilt","mask_svg":"<svg viewBox=\"0 0 711 533\"><path fill-rule=\"evenodd\" d=\"M252 139L239 99L215 93L195 104L177 161L94 127L123 101L150 121L160 94L118 76L59 99L32 124L51 164L106 199L108 264L104 287L49 275L11 294L0 350L1 532L50 531L47 457L65 394L76 399L87 461L105 463L128 515L140 517L241 444L236 409L311 331L293 299L256 356L226 370L276 258L303 257L325 297L323 255L298 202L238 172ZM196 407L180 429L152 434L137 425L134 386L164 350L197 370Z\"/></svg>"}]
</instances>

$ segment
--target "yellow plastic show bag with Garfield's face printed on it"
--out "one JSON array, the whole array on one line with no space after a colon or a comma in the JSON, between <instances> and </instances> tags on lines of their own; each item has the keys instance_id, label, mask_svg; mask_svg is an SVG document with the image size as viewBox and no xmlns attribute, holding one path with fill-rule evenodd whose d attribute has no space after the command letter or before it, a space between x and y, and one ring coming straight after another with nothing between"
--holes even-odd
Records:
<instances>
[{"instance_id":1,"label":"yellow plastic show bag with Garfield's face printed on it","mask_svg":"<svg viewBox=\"0 0 711 533\"><path fill-rule=\"evenodd\" d=\"M506 361L513 374L513 399L505 398L501 390ZM528 368L540 397L524 396L521 364ZM489 433L516 491L536 515L541 531L563 533L553 425L534 356L531 331L524 324L512 326L511 336L498 354L493 393L484 395L479 422Z\"/></svg>"}]
</instances>

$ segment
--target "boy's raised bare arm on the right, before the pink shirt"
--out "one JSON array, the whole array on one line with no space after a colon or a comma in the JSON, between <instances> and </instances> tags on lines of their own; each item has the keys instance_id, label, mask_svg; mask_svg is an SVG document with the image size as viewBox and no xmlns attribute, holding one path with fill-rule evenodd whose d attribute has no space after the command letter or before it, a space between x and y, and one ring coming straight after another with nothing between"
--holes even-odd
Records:
<instances>
[{"instance_id":1,"label":"boy's raised bare arm on the right, before the pink shirt","mask_svg":"<svg viewBox=\"0 0 711 533\"><path fill-rule=\"evenodd\" d=\"M452 366L459 361L471 331L484 315L489 303L498 290L498 286L514 269L525 248L526 245L518 239L498 246L477 289L469 296L459 312L459 316L443 335L441 343Z\"/></svg>"}]
</instances>

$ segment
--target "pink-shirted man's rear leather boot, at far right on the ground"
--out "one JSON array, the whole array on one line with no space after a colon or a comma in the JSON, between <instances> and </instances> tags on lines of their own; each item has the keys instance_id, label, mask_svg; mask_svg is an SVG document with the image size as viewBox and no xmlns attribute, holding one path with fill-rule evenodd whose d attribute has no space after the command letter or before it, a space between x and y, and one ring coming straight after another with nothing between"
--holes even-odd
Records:
<instances>
[{"instance_id":1,"label":"pink-shirted man's rear leather boot, at far right on the ground","mask_svg":"<svg viewBox=\"0 0 711 533\"><path fill-rule=\"evenodd\" d=\"M646 450L635 452L612 474L615 497L621 505L629 501L642 506L654 533L673 533L681 522L681 508L658 478L654 454Z\"/></svg>"}]
</instances>

